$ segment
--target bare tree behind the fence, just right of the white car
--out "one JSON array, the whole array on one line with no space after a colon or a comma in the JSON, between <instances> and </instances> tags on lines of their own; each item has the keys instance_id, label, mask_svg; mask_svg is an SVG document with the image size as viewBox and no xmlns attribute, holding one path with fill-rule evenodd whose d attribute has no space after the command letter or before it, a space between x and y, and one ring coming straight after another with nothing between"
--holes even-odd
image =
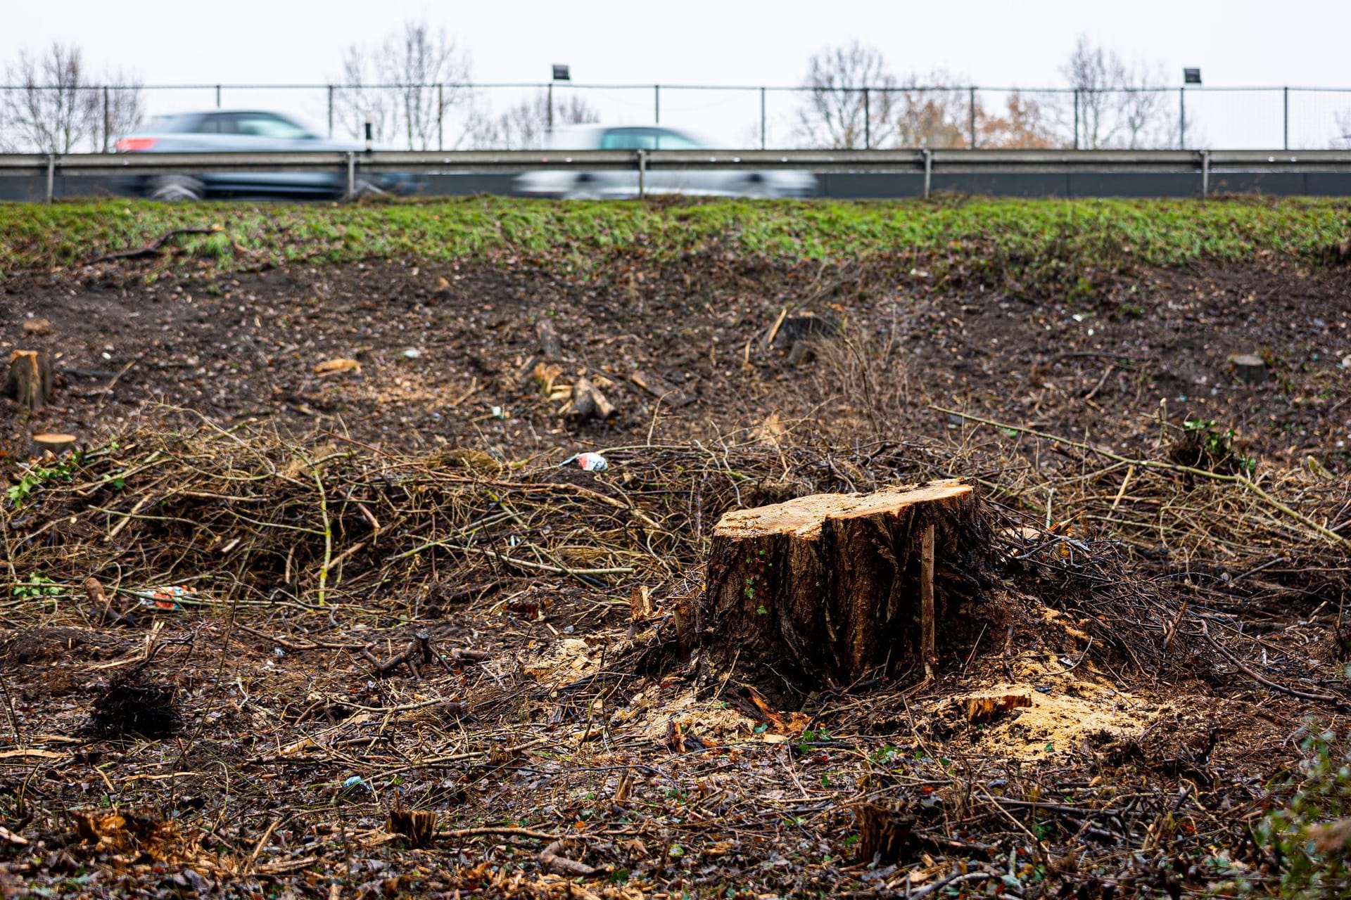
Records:
<instances>
[{"instance_id":1,"label":"bare tree behind the fence, just right of the white car","mask_svg":"<svg viewBox=\"0 0 1351 900\"><path fill-rule=\"evenodd\" d=\"M812 146L854 150L896 139L897 82L877 47L855 40L821 50L808 61L802 86L797 128Z\"/></svg>"}]
</instances>

